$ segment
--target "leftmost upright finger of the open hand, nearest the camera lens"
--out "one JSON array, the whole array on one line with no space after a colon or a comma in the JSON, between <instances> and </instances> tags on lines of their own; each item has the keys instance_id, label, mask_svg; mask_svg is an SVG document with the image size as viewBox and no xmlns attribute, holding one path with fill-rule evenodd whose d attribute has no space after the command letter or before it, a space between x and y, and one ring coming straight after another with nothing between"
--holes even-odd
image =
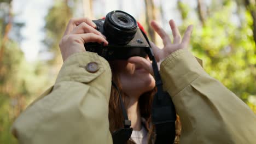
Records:
<instances>
[{"instance_id":1,"label":"leftmost upright finger of the open hand, nearest the camera lens","mask_svg":"<svg viewBox=\"0 0 256 144\"><path fill-rule=\"evenodd\" d=\"M158 33L158 35L161 37L162 42L164 43L164 45L167 45L168 43L171 43L171 39L169 37L169 35L164 31L164 29L162 29L158 23L156 23L155 21L152 21L150 23L150 25L152 26L152 28L154 29L154 31L156 33Z\"/></svg>"}]
</instances>

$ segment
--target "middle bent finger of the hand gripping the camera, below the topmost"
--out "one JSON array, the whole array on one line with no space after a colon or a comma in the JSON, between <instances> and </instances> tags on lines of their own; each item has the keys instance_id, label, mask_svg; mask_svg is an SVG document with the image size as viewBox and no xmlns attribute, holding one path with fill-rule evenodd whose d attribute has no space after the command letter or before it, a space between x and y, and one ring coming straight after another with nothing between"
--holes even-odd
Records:
<instances>
[{"instance_id":1,"label":"middle bent finger of the hand gripping the camera, below the topmost","mask_svg":"<svg viewBox=\"0 0 256 144\"><path fill-rule=\"evenodd\" d=\"M82 33L95 33L97 35L101 35L106 39L106 37L95 28L91 27L85 22L80 23L77 27L75 27L69 34L82 34Z\"/></svg>"}]
</instances>

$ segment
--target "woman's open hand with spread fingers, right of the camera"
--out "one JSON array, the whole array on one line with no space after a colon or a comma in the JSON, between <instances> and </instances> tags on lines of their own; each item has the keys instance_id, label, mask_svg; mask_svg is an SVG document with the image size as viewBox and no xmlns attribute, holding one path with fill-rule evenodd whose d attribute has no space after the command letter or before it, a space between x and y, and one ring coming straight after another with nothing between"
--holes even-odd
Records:
<instances>
[{"instance_id":1,"label":"woman's open hand with spread fingers, right of the camera","mask_svg":"<svg viewBox=\"0 0 256 144\"><path fill-rule=\"evenodd\" d=\"M173 35L173 43L172 43L169 35L155 21L152 21L150 24L154 29L154 31L160 35L164 43L164 48L160 49L154 43L150 42L150 45L152 46L152 49L154 52L155 59L158 62L158 68L160 69L161 62L164 61L164 59L168 55L170 55L172 52L177 51L179 49L187 49L193 26L190 25L187 28L187 31L185 32L184 37L182 39L181 34L179 33L179 30L178 30L178 27L175 25L173 20L170 20L169 24L172 29L172 35ZM144 69L148 70L150 74L153 75L152 63L149 61L149 59L145 59L142 57L131 57L128 59L128 62L140 65Z\"/></svg>"}]
</instances>

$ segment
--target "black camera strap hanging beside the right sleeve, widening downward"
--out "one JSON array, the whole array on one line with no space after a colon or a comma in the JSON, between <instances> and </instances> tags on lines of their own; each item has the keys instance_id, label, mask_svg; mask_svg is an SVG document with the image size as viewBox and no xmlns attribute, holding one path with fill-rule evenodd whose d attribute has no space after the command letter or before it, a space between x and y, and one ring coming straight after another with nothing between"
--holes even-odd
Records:
<instances>
[{"instance_id":1,"label":"black camera strap hanging beside the right sleeve, widening downward","mask_svg":"<svg viewBox=\"0 0 256 144\"><path fill-rule=\"evenodd\" d=\"M155 76L155 85L158 88L157 93L154 95L152 105L152 122L155 125L156 133L155 143L174 143L176 136L176 110L170 95L164 91L162 87L158 64L155 60L148 37L143 31L142 33L149 44L148 55L150 60L153 61L152 67Z\"/></svg>"}]
</instances>

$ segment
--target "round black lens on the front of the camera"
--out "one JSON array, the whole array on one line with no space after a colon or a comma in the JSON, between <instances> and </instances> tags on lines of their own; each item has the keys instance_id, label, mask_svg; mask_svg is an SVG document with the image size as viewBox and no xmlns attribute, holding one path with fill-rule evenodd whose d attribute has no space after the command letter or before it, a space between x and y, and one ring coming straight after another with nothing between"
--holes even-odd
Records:
<instances>
[{"instance_id":1,"label":"round black lens on the front of the camera","mask_svg":"<svg viewBox=\"0 0 256 144\"><path fill-rule=\"evenodd\" d=\"M106 16L104 34L109 43L125 45L135 37L137 27L137 22L131 15L114 10Z\"/></svg>"}]
</instances>

